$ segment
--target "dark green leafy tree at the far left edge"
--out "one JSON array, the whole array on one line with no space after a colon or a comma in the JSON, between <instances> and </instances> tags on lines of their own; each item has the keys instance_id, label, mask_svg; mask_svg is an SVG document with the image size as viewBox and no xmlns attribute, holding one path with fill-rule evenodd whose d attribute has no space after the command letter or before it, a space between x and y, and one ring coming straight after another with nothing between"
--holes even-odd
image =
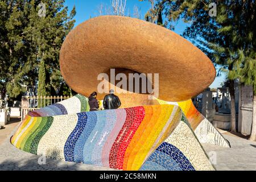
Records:
<instances>
[{"instance_id":1,"label":"dark green leafy tree at the far left edge","mask_svg":"<svg viewBox=\"0 0 256 182\"><path fill-rule=\"evenodd\" d=\"M27 61L29 47L23 39L28 16L26 1L0 1L0 86L10 97L16 97L26 89L31 64ZM2 95L4 96L4 95Z\"/></svg>"}]
</instances>

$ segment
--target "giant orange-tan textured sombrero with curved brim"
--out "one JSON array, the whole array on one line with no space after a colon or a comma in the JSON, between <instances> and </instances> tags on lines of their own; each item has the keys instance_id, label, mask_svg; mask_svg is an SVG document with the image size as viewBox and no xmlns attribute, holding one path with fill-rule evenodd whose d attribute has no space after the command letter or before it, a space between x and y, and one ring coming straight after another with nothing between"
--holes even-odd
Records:
<instances>
[{"instance_id":1,"label":"giant orange-tan textured sombrero with curved brim","mask_svg":"<svg viewBox=\"0 0 256 182\"><path fill-rule=\"evenodd\" d=\"M216 76L212 62L199 48L175 32L144 20L98 16L68 34L60 51L60 69L73 90L89 96L101 82L98 74L109 73L111 68L159 73L159 99L165 101L188 100ZM146 98L145 94L132 95Z\"/></svg>"}]
</instances>

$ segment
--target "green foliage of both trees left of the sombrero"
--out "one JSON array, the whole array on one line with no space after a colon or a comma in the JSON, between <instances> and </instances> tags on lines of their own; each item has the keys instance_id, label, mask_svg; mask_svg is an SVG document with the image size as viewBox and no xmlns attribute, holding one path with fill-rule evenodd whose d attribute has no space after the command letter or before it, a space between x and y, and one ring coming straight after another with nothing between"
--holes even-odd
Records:
<instances>
[{"instance_id":1,"label":"green foliage of both trees left of the sombrero","mask_svg":"<svg viewBox=\"0 0 256 182\"><path fill-rule=\"evenodd\" d=\"M10 97L38 82L39 87L46 86L46 93L56 94L55 85L50 85L51 75L59 69L61 44L74 26L76 10L74 7L68 15L64 0L44 0L46 16L40 17L40 2L0 1L0 90L6 89ZM40 63L44 63L45 83L39 81Z\"/></svg>"}]
</instances>

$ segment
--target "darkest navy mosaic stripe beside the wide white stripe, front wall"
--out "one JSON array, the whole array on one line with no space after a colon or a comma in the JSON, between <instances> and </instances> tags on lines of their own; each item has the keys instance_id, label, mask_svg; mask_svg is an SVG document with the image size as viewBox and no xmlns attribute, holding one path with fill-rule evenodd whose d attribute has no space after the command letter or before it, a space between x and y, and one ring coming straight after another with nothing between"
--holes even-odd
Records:
<instances>
[{"instance_id":1,"label":"darkest navy mosaic stripe beside the wide white stripe, front wall","mask_svg":"<svg viewBox=\"0 0 256 182\"><path fill-rule=\"evenodd\" d=\"M69 135L64 146L64 157L65 157L65 160L68 162L75 162L75 159L74 159L75 144L76 144L76 141L79 139L82 131L84 130L84 127L87 122L86 113L77 113L77 115L78 115L78 121L77 121L76 127L72 131L72 133Z\"/></svg>"}]
</instances>

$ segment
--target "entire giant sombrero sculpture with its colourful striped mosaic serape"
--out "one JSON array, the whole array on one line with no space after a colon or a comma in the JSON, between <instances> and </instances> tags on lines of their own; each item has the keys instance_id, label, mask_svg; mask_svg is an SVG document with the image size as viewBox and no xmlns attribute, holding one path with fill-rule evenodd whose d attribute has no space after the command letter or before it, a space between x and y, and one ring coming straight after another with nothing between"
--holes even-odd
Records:
<instances>
[{"instance_id":1,"label":"entire giant sombrero sculpture with its colourful striped mosaic serape","mask_svg":"<svg viewBox=\"0 0 256 182\"><path fill-rule=\"evenodd\" d=\"M200 142L229 147L190 100L214 80L212 63L166 28L122 16L90 19L65 39L60 68L79 94L28 113L11 138L17 148L123 170L213 170ZM98 74L112 68L159 73L159 100L120 93L123 88L104 80L123 108L89 111L86 96L97 90Z\"/></svg>"}]
</instances>

